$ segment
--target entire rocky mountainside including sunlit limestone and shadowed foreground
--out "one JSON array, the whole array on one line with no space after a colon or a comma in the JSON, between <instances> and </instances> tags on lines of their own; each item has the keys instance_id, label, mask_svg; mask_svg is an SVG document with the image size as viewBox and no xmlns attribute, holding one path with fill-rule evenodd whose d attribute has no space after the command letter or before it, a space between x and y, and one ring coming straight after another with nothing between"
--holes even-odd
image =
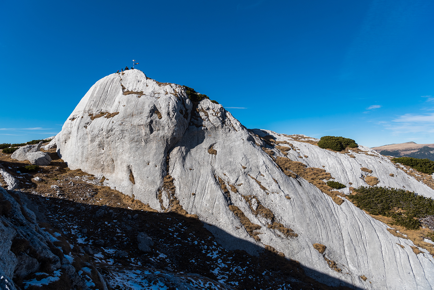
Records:
<instances>
[{"instance_id":1,"label":"entire rocky mountainside including sunlit limestone and shadowed foreground","mask_svg":"<svg viewBox=\"0 0 434 290\"><path fill-rule=\"evenodd\" d=\"M0 289L432 289L432 229L351 199L431 198L432 176L318 142L140 70L104 77L50 143L0 156ZM33 152L49 164L21 172Z\"/></svg>"}]
</instances>

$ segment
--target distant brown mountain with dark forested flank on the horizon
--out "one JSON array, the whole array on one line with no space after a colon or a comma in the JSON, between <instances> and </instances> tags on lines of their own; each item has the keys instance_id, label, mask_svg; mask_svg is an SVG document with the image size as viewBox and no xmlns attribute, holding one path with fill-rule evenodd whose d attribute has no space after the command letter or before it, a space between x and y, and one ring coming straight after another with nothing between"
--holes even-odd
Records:
<instances>
[{"instance_id":1,"label":"distant brown mountain with dark forested flank on the horizon","mask_svg":"<svg viewBox=\"0 0 434 290\"><path fill-rule=\"evenodd\" d=\"M413 141L372 147L381 155L393 157L427 158L434 161L434 144L417 144Z\"/></svg>"}]
</instances>

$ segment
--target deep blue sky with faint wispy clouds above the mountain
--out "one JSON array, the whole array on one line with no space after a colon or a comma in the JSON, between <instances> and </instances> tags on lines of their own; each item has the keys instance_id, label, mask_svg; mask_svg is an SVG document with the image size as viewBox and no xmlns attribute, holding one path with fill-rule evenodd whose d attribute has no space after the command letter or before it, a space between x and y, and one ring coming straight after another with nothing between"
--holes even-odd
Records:
<instances>
[{"instance_id":1,"label":"deep blue sky with faint wispy clouds above the mountain","mask_svg":"<svg viewBox=\"0 0 434 290\"><path fill-rule=\"evenodd\" d=\"M0 143L53 136L132 59L248 128L434 143L434 2L2 1Z\"/></svg>"}]
</instances>

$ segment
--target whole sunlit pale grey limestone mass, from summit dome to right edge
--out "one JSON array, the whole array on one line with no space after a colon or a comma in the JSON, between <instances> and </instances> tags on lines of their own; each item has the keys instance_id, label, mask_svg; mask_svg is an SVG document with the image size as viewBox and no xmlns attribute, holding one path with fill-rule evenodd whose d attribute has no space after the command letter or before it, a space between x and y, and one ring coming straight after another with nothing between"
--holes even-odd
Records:
<instances>
[{"instance_id":1,"label":"whole sunlit pale grey limestone mass, from summit dome to right edge","mask_svg":"<svg viewBox=\"0 0 434 290\"><path fill-rule=\"evenodd\" d=\"M336 153L307 141L248 130L221 105L193 104L181 86L139 70L95 83L56 137L70 169L104 176L105 185L157 210L197 214L229 250L272 247L333 286L434 287L429 253L416 255L410 240L392 236L349 201L338 205L308 180L287 176L278 161L325 169L347 187L369 186L375 177L378 186L427 197L434 191L367 147Z\"/></svg>"}]
</instances>

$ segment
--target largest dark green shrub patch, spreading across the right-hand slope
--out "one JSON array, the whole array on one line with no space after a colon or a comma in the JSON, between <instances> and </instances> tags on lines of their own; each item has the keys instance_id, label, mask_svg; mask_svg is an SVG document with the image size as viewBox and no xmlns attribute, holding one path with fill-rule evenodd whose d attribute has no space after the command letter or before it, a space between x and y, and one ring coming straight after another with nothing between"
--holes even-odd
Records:
<instances>
[{"instance_id":1,"label":"largest dark green shrub patch, spreading across the right-hand slope","mask_svg":"<svg viewBox=\"0 0 434 290\"><path fill-rule=\"evenodd\" d=\"M358 187L349 195L357 207L373 215L391 217L393 224L417 230L419 219L434 214L434 200L414 192L390 187ZM400 212L401 209L403 211ZM415 219L416 218L416 219Z\"/></svg>"}]
</instances>

